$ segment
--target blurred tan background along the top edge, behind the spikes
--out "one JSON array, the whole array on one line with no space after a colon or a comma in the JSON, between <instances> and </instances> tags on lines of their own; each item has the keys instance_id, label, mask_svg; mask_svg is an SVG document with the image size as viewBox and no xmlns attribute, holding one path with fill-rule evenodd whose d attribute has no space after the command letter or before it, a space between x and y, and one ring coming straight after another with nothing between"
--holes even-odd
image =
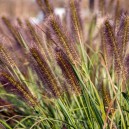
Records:
<instances>
[{"instance_id":1,"label":"blurred tan background along the top edge, behind the spikes","mask_svg":"<svg viewBox=\"0 0 129 129\"><path fill-rule=\"evenodd\" d=\"M52 0L51 0L52 1ZM66 7L65 2L68 0L53 0L52 3L54 7ZM97 9L98 4L102 0L80 0L82 3L82 8L85 10L85 14L88 13L88 7L90 3L95 2L94 9ZM114 0L105 0L107 2ZM120 4L123 5L126 10L129 7L129 0L119 0ZM36 17L39 15L39 7L36 4L36 0L0 0L0 16L11 16L19 18Z\"/></svg>"}]
</instances>

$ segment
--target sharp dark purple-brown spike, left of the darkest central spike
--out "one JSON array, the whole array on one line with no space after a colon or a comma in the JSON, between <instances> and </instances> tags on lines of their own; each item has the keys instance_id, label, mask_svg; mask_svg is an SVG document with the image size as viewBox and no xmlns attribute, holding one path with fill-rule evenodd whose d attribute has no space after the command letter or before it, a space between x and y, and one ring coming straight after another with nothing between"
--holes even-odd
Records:
<instances>
[{"instance_id":1,"label":"sharp dark purple-brown spike, left of the darkest central spike","mask_svg":"<svg viewBox=\"0 0 129 129\"><path fill-rule=\"evenodd\" d=\"M49 65L45 61L44 57L41 56L40 52L36 48L30 49L32 57L35 59L37 63L37 67L41 73L41 80L43 84L46 83L48 88L50 89L53 96L58 97L60 96L60 89L57 79L53 72L51 71Z\"/></svg>"}]
</instances>

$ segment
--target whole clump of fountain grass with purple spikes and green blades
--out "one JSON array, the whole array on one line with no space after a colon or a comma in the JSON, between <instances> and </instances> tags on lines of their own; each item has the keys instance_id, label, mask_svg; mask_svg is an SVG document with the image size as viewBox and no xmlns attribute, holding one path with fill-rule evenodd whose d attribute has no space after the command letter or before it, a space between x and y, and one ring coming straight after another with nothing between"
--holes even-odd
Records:
<instances>
[{"instance_id":1,"label":"whole clump of fountain grass with purple spikes and green blades","mask_svg":"<svg viewBox=\"0 0 129 129\"><path fill-rule=\"evenodd\" d=\"M81 19L77 0L68 3L69 25L48 0L37 0L45 14L40 25L17 19L16 26L2 18L1 35L13 47L0 46L0 128L129 127L128 14L116 2L120 15L105 19L114 4L100 2L99 29L97 16L86 24Z\"/></svg>"}]
</instances>

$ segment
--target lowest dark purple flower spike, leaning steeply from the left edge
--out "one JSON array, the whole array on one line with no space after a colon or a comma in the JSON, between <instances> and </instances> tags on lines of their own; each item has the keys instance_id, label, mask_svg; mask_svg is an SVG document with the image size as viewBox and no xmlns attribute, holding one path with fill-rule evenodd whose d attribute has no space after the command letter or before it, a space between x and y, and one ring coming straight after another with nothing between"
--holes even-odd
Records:
<instances>
[{"instance_id":1,"label":"lowest dark purple flower spike, leaning steeply from the left edge","mask_svg":"<svg viewBox=\"0 0 129 129\"><path fill-rule=\"evenodd\" d=\"M23 86L20 82L16 81L10 74L1 72L0 83L7 92L14 93L31 106L37 105L37 100L31 94L29 89L26 86Z\"/></svg>"}]
</instances>

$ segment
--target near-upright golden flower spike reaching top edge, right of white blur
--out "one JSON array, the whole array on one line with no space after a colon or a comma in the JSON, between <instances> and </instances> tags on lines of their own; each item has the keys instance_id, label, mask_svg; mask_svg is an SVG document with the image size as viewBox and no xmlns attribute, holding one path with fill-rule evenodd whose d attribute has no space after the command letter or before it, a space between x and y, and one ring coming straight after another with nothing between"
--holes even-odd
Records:
<instances>
[{"instance_id":1,"label":"near-upright golden flower spike reaching top edge, right of white blur","mask_svg":"<svg viewBox=\"0 0 129 129\"><path fill-rule=\"evenodd\" d=\"M80 7L78 0L70 0L70 13L72 18L73 29L75 30L75 38L82 42L82 21L80 15Z\"/></svg>"}]
</instances>

